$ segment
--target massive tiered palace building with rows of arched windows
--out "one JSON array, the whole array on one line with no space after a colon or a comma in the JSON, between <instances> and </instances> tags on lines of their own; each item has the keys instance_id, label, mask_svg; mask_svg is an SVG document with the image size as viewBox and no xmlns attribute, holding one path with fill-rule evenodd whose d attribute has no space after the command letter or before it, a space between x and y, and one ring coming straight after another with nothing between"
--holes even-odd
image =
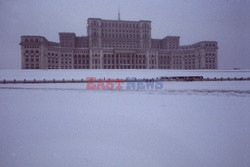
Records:
<instances>
[{"instance_id":1,"label":"massive tiered palace building with rows of arched windows","mask_svg":"<svg viewBox=\"0 0 250 167\"><path fill-rule=\"evenodd\" d=\"M217 69L216 41L180 46L178 36L151 38L151 21L89 18L87 36L21 37L22 69Z\"/></svg>"}]
</instances>

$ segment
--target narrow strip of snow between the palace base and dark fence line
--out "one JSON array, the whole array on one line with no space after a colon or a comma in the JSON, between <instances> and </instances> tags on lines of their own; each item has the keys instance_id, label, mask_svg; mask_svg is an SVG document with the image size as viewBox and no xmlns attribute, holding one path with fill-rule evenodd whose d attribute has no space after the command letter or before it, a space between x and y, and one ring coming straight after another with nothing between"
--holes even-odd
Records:
<instances>
[{"instance_id":1,"label":"narrow strip of snow between the palace base and dark fence line","mask_svg":"<svg viewBox=\"0 0 250 167\"><path fill-rule=\"evenodd\" d=\"M85 79L100 78L156 78L161 76L202 75L203 77L250 77L250 70L0 70L0 79L33 80L33 79Z\"/></svg>"}]
</instances>

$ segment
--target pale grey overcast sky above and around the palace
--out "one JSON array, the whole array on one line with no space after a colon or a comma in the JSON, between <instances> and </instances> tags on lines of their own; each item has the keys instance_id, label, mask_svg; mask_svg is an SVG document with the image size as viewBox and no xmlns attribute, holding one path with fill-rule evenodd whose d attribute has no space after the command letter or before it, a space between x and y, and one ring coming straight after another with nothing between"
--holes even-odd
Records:
<instances>
[{"instance_id":1,"label":"pale grey overcast sky above and around the palace","mask_svg":"<svg viewBox=\"0 0 250 167\"><path fill-rule=\"evenodd\" d=\"M0 68L20 68L20 36L59 41L58 32L86 35L89 17L117 19L117 0L0 0ZM250 0L120 0L121 19L151 20L152 38L181 45L219 43L219 68L250 69Z\"/></svg>"}]
</instances>

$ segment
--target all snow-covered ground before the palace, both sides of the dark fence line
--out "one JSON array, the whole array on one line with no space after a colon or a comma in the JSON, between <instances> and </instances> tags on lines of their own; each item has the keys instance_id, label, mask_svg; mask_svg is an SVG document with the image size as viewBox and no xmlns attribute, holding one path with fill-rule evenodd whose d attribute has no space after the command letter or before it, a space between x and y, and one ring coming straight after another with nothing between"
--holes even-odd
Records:
<instances>
[{"instance_id":1,"label":"all snow-covered ground before the palace, both sides of the dark fence line","mask_svg":"<svg viewBox=\"0 0 250 167\"><path fill-rule=\"evenodd\" d=\"M176 75L250 71L0 70L0 80ZM0 107L1 167L250 166L250 81L164 82L157 90L1 84Z\"/></svg>"}]
</instances>

